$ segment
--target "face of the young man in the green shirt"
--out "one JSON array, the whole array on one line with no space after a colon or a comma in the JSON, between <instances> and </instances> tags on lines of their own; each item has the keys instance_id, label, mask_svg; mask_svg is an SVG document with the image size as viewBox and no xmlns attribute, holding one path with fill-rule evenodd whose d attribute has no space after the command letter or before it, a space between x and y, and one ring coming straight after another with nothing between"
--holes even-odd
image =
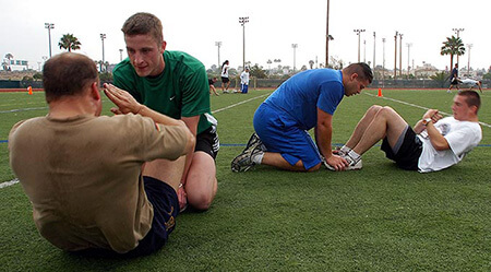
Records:
<instances>
[{"instance_id":1,"label":"face of the young man in the green shirt","mask_svg":"<svg viewBox=\"0 0 491 272\"><path fill-rule=\"evenodd\" d=\"M139 76L154 76L164 71L166 42L157 43L149 34L124 35L128 57Z\"/></svg>"}]
</instances>

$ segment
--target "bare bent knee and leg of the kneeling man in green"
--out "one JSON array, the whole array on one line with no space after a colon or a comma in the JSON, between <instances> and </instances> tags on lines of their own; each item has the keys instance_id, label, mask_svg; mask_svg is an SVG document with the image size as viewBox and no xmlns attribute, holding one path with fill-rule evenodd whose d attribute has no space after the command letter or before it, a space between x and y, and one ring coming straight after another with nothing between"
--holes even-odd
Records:
<instances>
[{"instance_id":1,"label":"bare bent knee and leg of the kneeling man in green","mask_svg":"<svg viewBox=\"0 0 491 272\"><path fill-rule=\"evenodd\" d=\"M194 152L185 180L188 203L197 210L207 210L217 191L215 159L202 151Z\"/></svg>"}]
</instances>

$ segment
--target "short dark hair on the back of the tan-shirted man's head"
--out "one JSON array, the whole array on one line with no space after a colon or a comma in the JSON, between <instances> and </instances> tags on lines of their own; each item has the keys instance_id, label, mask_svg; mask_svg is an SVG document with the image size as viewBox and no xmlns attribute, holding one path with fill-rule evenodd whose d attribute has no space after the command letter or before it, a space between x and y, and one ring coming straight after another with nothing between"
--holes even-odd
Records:
<instances>
[{"instance_id":1,"label":"short dark hair on the back of the tan-shirted man's head","mask_svg":"<svg viewBox=\"0 0 491 272\"><path fill-rule=\"evenodd\" d=\"M98 81L94 60L75 52L57 55L43 67L46 102L83 93L87 84Z\"/></svg>"}]
</instances>

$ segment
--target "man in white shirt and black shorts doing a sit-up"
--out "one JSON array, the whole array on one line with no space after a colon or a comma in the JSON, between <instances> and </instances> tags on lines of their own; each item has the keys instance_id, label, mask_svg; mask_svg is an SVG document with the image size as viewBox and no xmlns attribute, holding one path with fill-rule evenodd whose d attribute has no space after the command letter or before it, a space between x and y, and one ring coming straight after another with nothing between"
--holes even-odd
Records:
<instances>
[{"instance_id":1,"label":"man in white shirt and black shorts doing a sit-up","mask_svg":"<svg viewBox=\"0 0 491 272\"><path fill-rule=\"evenodd\" d=\"M414 128L391 107L374 105L338 151L349 163L343 170L361 169L361 155L379 140L387 158L403 169L428 173L455 165L482 139L480 105L477 92L463 91L454 97L452 117L442 119L438 109L429 109Z\"/></svg>"}]
</instances>

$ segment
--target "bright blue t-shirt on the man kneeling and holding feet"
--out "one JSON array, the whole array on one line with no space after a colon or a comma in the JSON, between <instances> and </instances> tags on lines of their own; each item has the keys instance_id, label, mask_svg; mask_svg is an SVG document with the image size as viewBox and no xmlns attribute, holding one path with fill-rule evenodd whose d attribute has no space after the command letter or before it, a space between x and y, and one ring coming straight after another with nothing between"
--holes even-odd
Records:
<instances>
[{"instance_id":1,"label":"bright blue t-shirt on the man kneeling and holding feet","mask_svg":"<svg viewBox=\"0 0 491 272\"><path fill-rule=\"evenodd\" d=\"M310 130L318 123L318 107L334 115L344 95L342 71L313 69L285 81L264 103L287 113L300 129Z\"/></svg>"}]
</instances>

